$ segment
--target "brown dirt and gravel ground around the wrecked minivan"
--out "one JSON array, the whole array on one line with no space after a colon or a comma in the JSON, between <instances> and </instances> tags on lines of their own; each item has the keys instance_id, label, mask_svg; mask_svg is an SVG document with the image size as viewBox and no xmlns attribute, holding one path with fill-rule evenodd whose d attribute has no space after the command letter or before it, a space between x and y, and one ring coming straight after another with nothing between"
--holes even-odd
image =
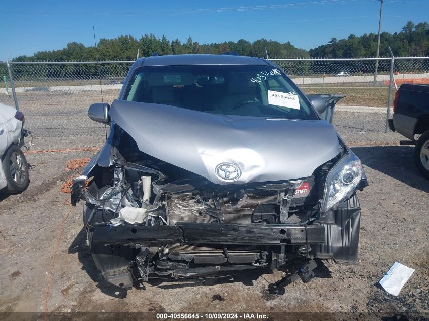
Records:
<instances>
[{"instance_id":1,"label":"brown dirt and gravel ground around the wrecked minivan","mask_svg":"<svg viewBox=\"0 0 429 321\"><path fill-rule=\"evenodd\" d=\"M398 134L345 130L342 136L365 164L370 184L358 192L362 207L358 264L318 261L316 277L309 283L295 281L284 295L270 294L267 287L299 262L275 273L206 281L153 280L145 289L118 291L98 276L85 245L82 204L72 208L69 195L59 191L66 177L79 174L65 171L65 162L95 152L27 154L29 188L0 198L0 318L16 319L11 312L39 312L25 316L40 319L46 305L49 312L326 312L327 319L338 320L382 312L396 315L395 320L409 315L426 319L429 181L415 168L413 147L397 145L402 139ZM99 147L101 142L91 137L45 137L35 139L33 150ZM415 269L397 297L376 286L395 261ZM282 314L270 318L283 319Z\"/></svg>"}]
</instances>

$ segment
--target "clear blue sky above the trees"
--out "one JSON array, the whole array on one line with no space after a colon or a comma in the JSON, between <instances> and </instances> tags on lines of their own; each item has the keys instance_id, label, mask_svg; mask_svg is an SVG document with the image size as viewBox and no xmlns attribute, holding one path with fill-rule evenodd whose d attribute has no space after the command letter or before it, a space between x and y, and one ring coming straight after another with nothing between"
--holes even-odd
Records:
<instances>
[{"instance_id":1,"label":"clear blue sky above the trees","mask_svg":"<svg viewBox=\"0 0 429 321\"><path fill-rule=\"evenodd\" d=\"M153 33L201 44L266 38L308 50L332 37L377 33L379 10L377 0L0 0L0 61L69 42L92 46L93 26L97 41ZM382 31L399 32L409 20L429 22L429 0L384 0Z\"/></svg>"}]
</instances>

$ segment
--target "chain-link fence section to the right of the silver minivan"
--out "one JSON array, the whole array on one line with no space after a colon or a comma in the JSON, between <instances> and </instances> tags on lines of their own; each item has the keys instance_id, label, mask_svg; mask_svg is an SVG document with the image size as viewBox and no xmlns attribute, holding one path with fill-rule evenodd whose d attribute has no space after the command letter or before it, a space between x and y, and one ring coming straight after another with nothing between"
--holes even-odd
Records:
<instances>
[{"instance_id":1,"label":"chain-link fence section to the right of the silver minivan","mask_svg":"<svg viewBox=\"0 0 429 321\"><path fill-rule=\"evenodd\" d=\"M404 82L429 84L429 57L272 61L307 94L347 95L335 108L334 125L340 132L387 130L386 119L391 117L387 113L393 110L388 105L393 106L397 87Z\"/></svg>"}]
</instances>

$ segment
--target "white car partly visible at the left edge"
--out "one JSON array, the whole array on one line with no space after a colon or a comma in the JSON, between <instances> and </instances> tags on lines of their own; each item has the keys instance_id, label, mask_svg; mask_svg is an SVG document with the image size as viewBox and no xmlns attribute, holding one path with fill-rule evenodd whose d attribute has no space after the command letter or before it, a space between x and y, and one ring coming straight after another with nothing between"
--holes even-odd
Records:
<instances>
[{"instance_id":1,"label":"white car partly visible at the left edge","mask_svg":"<svg viewBox=\"0 0 429 321\"><path fill-rule=\"evenodd\" d=\"M0 192L20 193L29 183L28 163L21 151L27 131L24 114L0 103Z\"/></svg>"}]
</instances>

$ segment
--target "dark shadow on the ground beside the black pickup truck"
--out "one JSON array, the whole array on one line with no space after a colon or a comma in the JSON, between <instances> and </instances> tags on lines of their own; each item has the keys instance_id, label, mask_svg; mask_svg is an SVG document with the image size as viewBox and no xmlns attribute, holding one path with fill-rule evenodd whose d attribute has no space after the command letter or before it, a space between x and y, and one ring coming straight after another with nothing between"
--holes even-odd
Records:
<instances>
[{"instance_id":1,"label":"dark shadow on the ground beside the black pickup truck","mask_svg":"<svg viewBox=\"0 0 429 321\"><path fill-rule=\"evenodd\" d=\"M429 192L429 181L417 170L412 146L354 147L353 152L365 166L382 172L410 187ZM369 177L369 183L371 179Z\"/></svg>"}]
</instances>

